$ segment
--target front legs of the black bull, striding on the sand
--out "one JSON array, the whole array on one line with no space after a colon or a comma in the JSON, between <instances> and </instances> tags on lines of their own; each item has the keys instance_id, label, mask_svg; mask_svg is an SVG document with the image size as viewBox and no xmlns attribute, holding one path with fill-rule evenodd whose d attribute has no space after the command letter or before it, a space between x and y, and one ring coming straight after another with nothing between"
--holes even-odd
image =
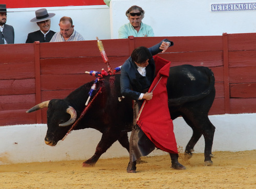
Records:
<instances>
[{"instance_id":1,"label":"front legs of the black bull, striding on the sand","mask_svg":"<svg viewBox=\"0 0 256 189\"><path fill-rule=\"evenodd\" d=\"M98 161L98 159L100 158L100 156L106 152L106 150L108 150L117 140L121 140L123 141L125 139L125 136L127 136L126 132L118 132L118 131L113 131L113 130L108 130L108 132L102 133L101 139L99 141L99 144L96 147L96 151L94 153L94 155L84 161L82 163L83 167L92 167L95 165L95 163ZM121 139L122 137L124 137L124 139ZM128 138L127 138L128 140ZM128 142L129 143L129 142ZM124 145L124 143L121 144L122 146ZM129 144L128 147L124 146L124 148L128 148L127 150L129 151Z\"/></svg>"}]
</instances>

